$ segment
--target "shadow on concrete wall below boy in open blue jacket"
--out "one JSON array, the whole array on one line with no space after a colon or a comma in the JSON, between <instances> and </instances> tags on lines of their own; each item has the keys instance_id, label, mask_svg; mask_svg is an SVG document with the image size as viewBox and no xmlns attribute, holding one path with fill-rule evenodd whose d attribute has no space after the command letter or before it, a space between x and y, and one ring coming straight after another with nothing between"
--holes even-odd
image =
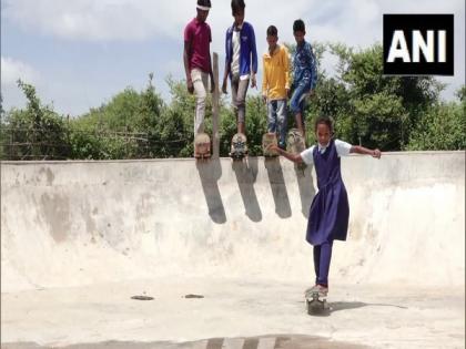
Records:
<instances>
[{"instance_id":1,"label":"shadow on concrete wall below boy in open blue jacket","mask_svg":"<svg viewBox=\"0 0 466 349\"><path fill-rule=\"evenodd\" d=\"M259 206L257 195L254 191L254 182L257 177L257 158L249 157L245 161L234 161L233 172L240 187L241 198L243 199L245 214L252 222L262 220L262 212Z\"/></svg>"}]
</instances>

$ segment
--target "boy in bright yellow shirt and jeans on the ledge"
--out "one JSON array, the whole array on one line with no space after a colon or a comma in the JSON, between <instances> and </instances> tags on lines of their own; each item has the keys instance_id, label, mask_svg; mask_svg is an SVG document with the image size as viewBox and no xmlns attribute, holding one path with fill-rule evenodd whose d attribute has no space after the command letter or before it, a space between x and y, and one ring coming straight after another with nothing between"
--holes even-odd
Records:
<instances>
[{"instance_id":1,"label":"boy in bright yellow shirt and jeans on the ledge","mask_svg":"<svg viewBox=\"0 0 466 349\"><path fill-rule=\"evenodd\" d=\"M286 97L290 92L290 59L285 47L278 45L275 25L267 28L269 52L264 53L262 97L267 103L267 131L278 131L278 146L286 146Z\"/></svg>"}]
</instances>

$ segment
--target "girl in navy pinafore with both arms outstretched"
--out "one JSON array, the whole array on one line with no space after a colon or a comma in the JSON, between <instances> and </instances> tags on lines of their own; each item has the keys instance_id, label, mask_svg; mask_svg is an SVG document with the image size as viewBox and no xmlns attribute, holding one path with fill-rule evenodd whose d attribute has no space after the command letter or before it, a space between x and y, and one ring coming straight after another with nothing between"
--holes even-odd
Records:
<instances>
[{"instance_id":1,"label":"girl in navy pinafore with both arms outstretched","mask_svg":"<svg viewBox=\"0 0 466 349\"><path fill-rule=\"evenodd\" d=\"M379 158L381 151L334 140L333 125L328 117L318 117L314 130L317 145L301 154L291 154L276 145L271 145L270 148L294 163L304 162L315 166L318 192L311 204L306 230L306 240L314 246L315 286L306 290L306 296L317 291L320 296L325 297L328 292L333 242L346 239L350 219L348 197L341 173L341 156L355 153Z\"/></svg>"}]
</instances>

